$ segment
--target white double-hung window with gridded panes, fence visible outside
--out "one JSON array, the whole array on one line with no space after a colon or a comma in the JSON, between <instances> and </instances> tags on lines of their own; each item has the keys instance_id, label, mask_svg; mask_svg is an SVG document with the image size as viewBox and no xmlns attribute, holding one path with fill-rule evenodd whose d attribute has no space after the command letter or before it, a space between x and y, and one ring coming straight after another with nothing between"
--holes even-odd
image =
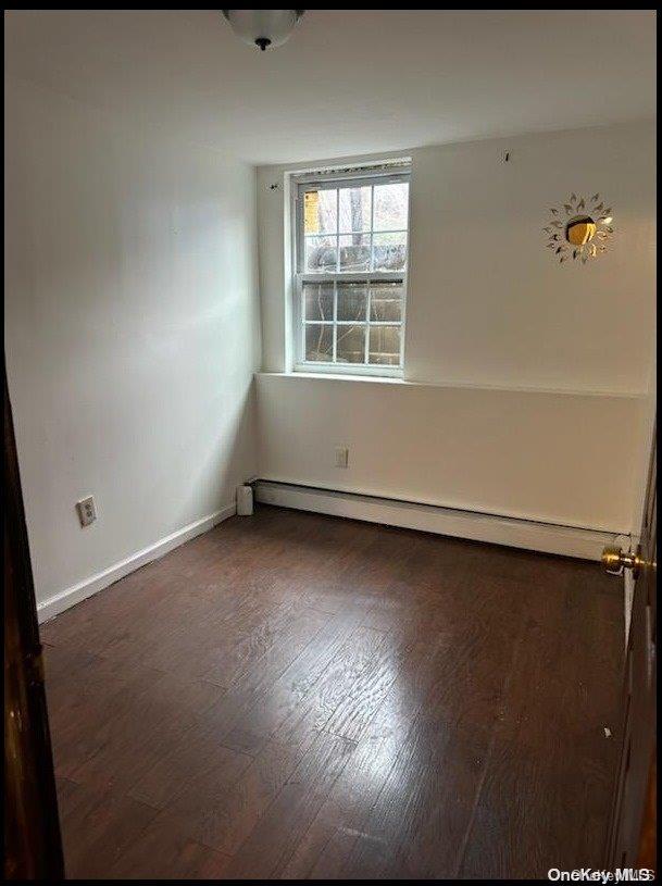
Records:
<instances>
[{"instance_id":1,"label":"white double-hung window with gridded panes, fence visible outside","mask_svg":"<svg viewBox=\"0 0 662 886\"><path fill-rule=\"evenodd\" d=\"M293 215L297 369L400 375L408 171L300 180Z\"/></svg>"}]
</instances>

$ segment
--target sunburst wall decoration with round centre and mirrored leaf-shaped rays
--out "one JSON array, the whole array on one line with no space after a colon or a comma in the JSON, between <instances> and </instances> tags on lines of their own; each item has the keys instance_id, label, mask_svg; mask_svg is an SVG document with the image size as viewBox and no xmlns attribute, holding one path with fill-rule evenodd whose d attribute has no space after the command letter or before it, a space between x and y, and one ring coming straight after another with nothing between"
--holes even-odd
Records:
<instances>
[{"instance_id":1,"label":"sunburst wall decoration with round centre and mirrored leaf-shaped rays","mask_svg":"<svg viewBox=\"0 0 662 886\"><path fill-rule=\"evenodd\" d=\"M566 203L550 209L551 219L542 228L547 248L563 262L580 259L583 264L607 252L614 233L611 207L594 194L590 200L571 194Z\"/></svg>"}]
</instances>

